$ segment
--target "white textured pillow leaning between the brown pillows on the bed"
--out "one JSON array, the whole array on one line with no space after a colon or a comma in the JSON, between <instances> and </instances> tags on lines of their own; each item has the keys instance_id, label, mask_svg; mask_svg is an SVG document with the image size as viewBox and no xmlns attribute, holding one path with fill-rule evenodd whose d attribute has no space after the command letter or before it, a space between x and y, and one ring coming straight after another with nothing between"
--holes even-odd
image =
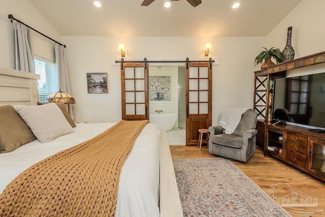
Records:
<instances>
[{"instance_id":1,"label":"white textured pillow leaning between the brown pillows on the bed","mask_svg":"<svg viewBox=\"0 0 325 217\"><path fill-rule=\"evenodd\" d=\"M74 133L70 123L55 103L42 106L19 106L17 112L42 143Z\"/></svg>"}]
</instances>

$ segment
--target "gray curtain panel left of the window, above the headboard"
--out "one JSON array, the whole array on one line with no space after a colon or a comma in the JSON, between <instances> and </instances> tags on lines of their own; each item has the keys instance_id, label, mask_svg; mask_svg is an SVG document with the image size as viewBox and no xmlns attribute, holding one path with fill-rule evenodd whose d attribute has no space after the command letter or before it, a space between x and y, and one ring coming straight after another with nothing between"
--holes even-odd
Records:
<instances>
[{"instance_id":1,"label":"gray curtain panel left of the window, above the headboard","mask_svg":"<svg viewBox=\"0 0 325 217\"><path fill-rule=\"evenodd\" d=\"M31 29L21 23L14 23L15 68L35 73L34 55L31 49Z\"/></svg>"}]
</instances>

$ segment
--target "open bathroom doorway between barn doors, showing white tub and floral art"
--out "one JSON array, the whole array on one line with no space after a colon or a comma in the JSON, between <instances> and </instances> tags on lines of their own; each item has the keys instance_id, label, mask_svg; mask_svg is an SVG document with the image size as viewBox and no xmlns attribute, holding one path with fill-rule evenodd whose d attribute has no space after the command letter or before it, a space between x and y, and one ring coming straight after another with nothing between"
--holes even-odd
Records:
<instances>
[{"instance_id":1,"label":"open bathroom doorway between barn doors, showing white tub and floral art","mask_svg":"<svg viewBox=\"0 0 325 217\"><path fill-rule=\"evenodd\" d=\"M185 67L149 68L150 122L167 131L170 145L185 145Z\"/></svg>"}]
</instances>

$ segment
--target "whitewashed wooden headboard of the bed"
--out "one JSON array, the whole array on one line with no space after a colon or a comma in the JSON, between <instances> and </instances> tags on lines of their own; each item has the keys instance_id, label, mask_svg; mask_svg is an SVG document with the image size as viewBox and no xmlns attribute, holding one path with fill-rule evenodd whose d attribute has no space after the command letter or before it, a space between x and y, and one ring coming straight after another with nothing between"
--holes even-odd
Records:
<instances>
[{"instance_id":1,"label":"whitewashed wooden headboard of the bed","mask_svg":"<svg viewBox=\"0 0 325 217\"><path fill-rule=\"evenodd\" d=\"M37 105L38 79L38 74L0 68L0 106Z\"/></svg>"}]
</instances>

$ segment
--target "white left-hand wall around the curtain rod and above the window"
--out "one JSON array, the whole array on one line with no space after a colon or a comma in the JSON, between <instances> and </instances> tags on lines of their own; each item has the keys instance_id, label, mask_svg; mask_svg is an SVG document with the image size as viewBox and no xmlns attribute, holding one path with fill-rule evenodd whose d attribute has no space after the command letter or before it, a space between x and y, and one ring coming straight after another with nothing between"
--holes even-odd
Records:
<instances>
[{"instance_id":1,"label":"white left-hand wall around the curtain rod and above the window","mask_svg":"<svg viewBox=\"0 0 325 217\"><path fill-rule=\"evenodd\" d=\"M60 34L44 18L44 16L26 0L1 0L0 4L0 67L14 69L14 30L8 19L12 14L16 19L37 29L39 32L57 40L61 40ZM33 32L33 46L35 51L46 58L53 58L53 51L48 51L50 40ZM45 49L44 46L46 47Z\"/></svg>"}]
</instances>

